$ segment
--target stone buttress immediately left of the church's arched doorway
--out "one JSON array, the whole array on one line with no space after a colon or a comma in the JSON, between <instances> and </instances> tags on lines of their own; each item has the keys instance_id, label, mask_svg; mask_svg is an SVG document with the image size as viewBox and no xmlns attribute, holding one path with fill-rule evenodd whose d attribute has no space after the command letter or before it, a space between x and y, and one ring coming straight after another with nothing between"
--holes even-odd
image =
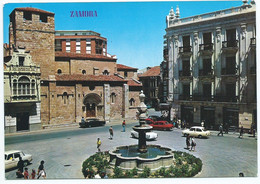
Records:
<instances>
[{"instance_id":1,"label":"stone buttress immediately left of the church's arched doorway","mask_svg":"<svg viewBox=\"0 0 260 184\"><path fill-rule=\"evenodd\" d=\"M83 95L82 84L75 85L75 121L80 122L82 114Z\"/></svg>"}]
</instances>

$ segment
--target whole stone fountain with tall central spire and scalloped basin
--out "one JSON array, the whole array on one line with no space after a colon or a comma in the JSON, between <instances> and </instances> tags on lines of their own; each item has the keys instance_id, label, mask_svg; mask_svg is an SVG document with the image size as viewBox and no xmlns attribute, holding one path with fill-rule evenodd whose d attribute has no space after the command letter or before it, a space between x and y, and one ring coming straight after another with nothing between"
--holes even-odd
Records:
<instances>
[{"instance_id":1,"label":"whole stone fountain with tall central spire and scalloped basin","mask_svg":"<svg viewBox=\"0 0 260 184\"><path fill-rule=\"evenodd\" d=\"M146 132L152 130L152 126L145 124L147 107L144 103L145 95L141 91L139 111L139 125L133 129L139 133L138 145L119 146L109 151L110 164L124 170L137 168L143 170L145 167L152 171L161 167L173 165L174 154L170 148L160 145L146 145Z\"/></svg>"}]
</instances>

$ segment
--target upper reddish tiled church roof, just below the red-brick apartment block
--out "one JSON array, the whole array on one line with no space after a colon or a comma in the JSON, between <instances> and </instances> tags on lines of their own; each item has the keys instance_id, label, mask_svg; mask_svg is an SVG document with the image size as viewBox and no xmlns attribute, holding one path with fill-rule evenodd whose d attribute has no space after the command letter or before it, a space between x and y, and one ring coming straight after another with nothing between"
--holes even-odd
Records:
<instances>
[{"instance_id":1,"label":"upper reddish tiled church roof, just below the red-brick apartment block","mask_svg":"<svg viewBox=\"0 0 260 184\"><path fill-rule=\"evenodd\" d=\"M82 53L73 53L73 52L55 52L55 57L65 57L70 59L93 59L93 60L109 60L116 61L116 58L107 57L103 55L92 55L92 54L82 54Z\"/></svg>"}]
</instances>

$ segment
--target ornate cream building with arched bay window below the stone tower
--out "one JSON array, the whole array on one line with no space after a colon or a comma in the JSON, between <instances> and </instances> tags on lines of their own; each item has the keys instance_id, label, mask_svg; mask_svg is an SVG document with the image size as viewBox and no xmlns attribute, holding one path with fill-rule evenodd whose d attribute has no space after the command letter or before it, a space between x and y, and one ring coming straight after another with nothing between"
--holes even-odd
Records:
<instances>
[{"instance_id":1,"label":"ornate cream building with arched bay window below the stone tower","mask_svg":"<svg viewBox=\"0 0 260 184\"><path fill-rule=\"evenodd\" d=\"M5 132L41 128L40 66L24 48L14 48L4 62Z\"/></svg>"}]
</instances>

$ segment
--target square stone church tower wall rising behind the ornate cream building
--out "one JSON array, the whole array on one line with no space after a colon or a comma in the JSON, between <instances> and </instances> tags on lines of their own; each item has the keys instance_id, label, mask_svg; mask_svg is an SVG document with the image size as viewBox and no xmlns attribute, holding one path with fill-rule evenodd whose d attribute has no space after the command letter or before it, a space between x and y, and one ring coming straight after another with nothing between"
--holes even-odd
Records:
<instances>
[{"instance_id":1,"label":"square stone church tower wall rising behind the ornate cream building","mask_svg":"<svg viewBox=\"0 0 260 184\"><path fill-rule=\"evenodd\" d=\"M32 60L41 67L41 79L55 72L54 16L48 16L48 22L40 22L40 15L32 13L32 20L23 19L23 11L15 11L14 42L16 46L25 46L30 50ZM13 39L13 37L11 37Z\"/></svg>"}]
</instances>

